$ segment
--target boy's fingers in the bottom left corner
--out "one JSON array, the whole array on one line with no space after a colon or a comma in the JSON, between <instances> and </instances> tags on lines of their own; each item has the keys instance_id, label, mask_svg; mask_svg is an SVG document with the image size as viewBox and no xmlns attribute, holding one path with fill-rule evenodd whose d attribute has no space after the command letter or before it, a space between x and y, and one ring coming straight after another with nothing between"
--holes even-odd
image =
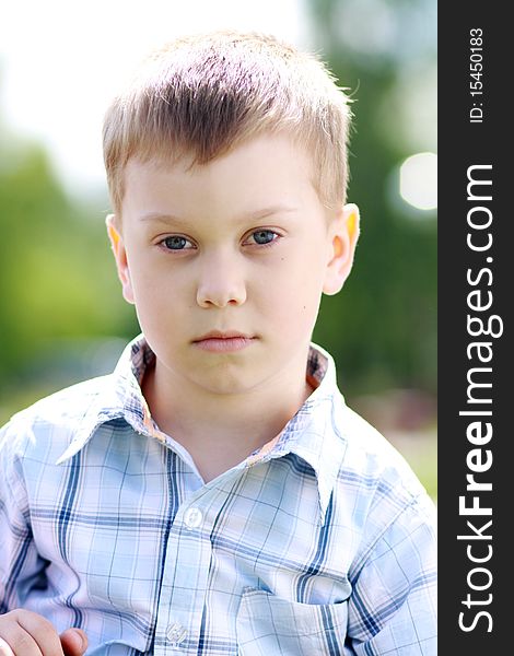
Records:
<instances>
[{"instance_id":1,"label":"boy's fingers in the bottom left corner","mask_svg":"<svg viewBox=\"0 0 514 656\"><path fill-rule=\"evenodd\" d=\"M58 635L48 620L30 610L0 616L0 656L82 656L86 648L81 629Z\"/></svg>"}]
</instances>

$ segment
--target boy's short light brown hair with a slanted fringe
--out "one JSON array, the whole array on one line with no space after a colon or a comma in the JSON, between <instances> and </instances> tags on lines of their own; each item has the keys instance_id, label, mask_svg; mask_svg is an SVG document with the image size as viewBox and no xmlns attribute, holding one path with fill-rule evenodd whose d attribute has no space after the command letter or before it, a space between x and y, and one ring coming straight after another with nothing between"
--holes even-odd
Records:
<instances>
[{"instance_id":1,"label":"boy's short light brown hair with a slanted fringe","mask_svg":"<svg viewBox=\"0 0 514 656\"><path fill-rule=\"evenodd\" d=\"M152 52L110 104L104 162L120 213L131 157L207 164L266 132L285 132L313 156L322 202L346 201L349 98L316 56L273 36L220 31L177 38Z\"/></svg>"}]
</instances>

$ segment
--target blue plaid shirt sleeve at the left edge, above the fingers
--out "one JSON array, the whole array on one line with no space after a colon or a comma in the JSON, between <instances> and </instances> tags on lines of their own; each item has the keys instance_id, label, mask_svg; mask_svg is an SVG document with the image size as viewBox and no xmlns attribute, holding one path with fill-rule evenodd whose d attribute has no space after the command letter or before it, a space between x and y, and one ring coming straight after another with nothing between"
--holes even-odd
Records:
<instances>
[{"instance_id":1,"label":"blue plaid shirt sleeve at the left edge, above the fingers","mask_svg":"<svg viewBox=\"0 0 514 656\"><path fill-rule=\"evenodd\" d=\"M34 585L44 585L45 561L34 544L20 434L0 430L0 614L23 606Z\"/></svg>"}]
</instances>

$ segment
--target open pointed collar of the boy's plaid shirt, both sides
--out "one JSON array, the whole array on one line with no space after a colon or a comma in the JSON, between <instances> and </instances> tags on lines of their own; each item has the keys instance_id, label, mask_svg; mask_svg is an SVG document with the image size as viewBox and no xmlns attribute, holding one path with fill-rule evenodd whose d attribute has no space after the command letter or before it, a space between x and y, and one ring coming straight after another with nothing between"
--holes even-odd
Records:
<instances>
[{"instance_id":1,"label":"open pointed collar of the boy's plaid shirt, both sides","mask_svg":"<svg viewBox=\"0 0 514 656\"><path fill-rule=\"evenodd\" d=\"M98 426L115 419L125 419L137 433L170 443L170 437L153 422L141 393L144 372L154 361L155 354L142 335L126 347L114 373L98 379L98 394L58 465L81 450ZM253 467L290 453L302 458L316 475L323 524L347 443L341 433L344 401L337 387L336 366L330 354L314 343L308 352L307 379L316 389L283 431L241 466ZM173 444L176 447L177 443Z\"/></svg>"}]
</instances>

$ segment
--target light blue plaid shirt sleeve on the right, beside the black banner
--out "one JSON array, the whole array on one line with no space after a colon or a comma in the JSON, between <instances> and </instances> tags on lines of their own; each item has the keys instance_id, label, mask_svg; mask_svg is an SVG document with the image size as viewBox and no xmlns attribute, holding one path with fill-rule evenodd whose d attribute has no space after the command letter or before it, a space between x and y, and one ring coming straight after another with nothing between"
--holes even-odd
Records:
<instances>
[{"instance_id":1,"label":"light blue plaid shirt sleeve on the right, beside the black banner","mask_svg":"<svg viewBox=\"0 0 514 656\"><path fill-rule=\"evenodd\" d=\"M428 496L413 501L366 554L349 605L357 656L435 656L435 508Z\"/></svg>"}]
</instances>

